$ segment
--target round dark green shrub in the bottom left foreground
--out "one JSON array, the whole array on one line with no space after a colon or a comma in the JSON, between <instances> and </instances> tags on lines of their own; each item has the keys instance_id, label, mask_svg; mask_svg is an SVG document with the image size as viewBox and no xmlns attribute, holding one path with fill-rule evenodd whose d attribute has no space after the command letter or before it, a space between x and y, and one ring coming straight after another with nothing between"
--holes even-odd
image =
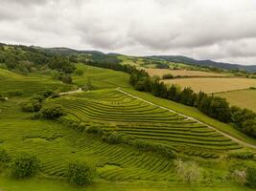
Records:
<instances>
[{"instance_id":1,"label":"round dark green shrub in the bottom left foreground","mask_svg":"<svg viewBox=\"0 0 256 191\"><path fill-rule=\"evenodd\" d=\"M29 154L21 154L12 162L12 175L18 179L32 177L38 169L38 159Z\"/></svg>"}]
</instances>

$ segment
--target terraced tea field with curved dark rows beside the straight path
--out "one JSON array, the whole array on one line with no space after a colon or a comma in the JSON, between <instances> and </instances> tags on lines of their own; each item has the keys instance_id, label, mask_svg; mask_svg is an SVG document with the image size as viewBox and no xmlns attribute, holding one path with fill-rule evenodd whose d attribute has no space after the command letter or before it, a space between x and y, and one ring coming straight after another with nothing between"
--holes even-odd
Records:
<instances>
[{"instance_id":1,"label":"terraced tea field with curved dark rows beside the straight path","mask_svg":"<svg viewBox=\"0 0 256 191\"><path fill-rule=\"evenodd\" d=\"M187 155L215 159L223 152L241 148L230 138L197 121L117 90L64 96L49 104L60 104L68 119L102 124L105 130L164 144Z\"/></svg>"}]
</instances>

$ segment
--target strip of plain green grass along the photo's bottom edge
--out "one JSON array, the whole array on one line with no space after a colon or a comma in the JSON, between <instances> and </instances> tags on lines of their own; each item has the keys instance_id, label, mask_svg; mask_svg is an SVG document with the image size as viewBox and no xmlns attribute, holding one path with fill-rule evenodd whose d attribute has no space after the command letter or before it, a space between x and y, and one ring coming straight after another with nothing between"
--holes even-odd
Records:
<instances>
[{"instance_id":1,"label":"strip of plain green grass along the photo's bottom edge","mask_svg":"<svg viewBox=\"0 0 256 191\"><path fill-rule=\"evenodd\" d=\"M133 182L110 183L97 182L85 187L76 187L59 180L12 180L0 177L0 189L3 191L251 191L244 186L236 184L203 185L182 184L169 182Z\"/></svg>"}]
</instances>

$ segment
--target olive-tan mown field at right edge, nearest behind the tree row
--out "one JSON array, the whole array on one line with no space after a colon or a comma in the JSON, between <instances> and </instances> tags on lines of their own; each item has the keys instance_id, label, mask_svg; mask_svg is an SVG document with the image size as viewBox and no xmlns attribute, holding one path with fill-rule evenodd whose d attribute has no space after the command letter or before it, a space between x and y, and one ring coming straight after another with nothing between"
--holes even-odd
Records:
<instances>
[{"instance_id":1,"label":"olive-tan mown field at right edge, nearest behind the tree row","mask_svg":"<svg viewBox=\"0 0 256 191\"><path fill-rule=\"evenodd\" d=\"M231 105L250 109L256 112L256 90L239 90L217 94L227 99Z\"/></svg>"}]
</instances>

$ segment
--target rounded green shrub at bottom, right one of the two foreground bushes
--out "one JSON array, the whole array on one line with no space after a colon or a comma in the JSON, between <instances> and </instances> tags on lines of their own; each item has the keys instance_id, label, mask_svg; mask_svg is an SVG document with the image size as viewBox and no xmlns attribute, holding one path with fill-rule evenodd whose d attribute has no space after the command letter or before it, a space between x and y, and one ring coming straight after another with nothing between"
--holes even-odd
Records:
<instances>
[{"instance_id":1,"label":"rounded green shrub at bottom, right one of the two foreground bushes","mask_svg":"<svg viewBox=\"0 0 256 191\"><path fill-rule=\"evenodd\" d=\"M75 161L68 165L67 178L70 183L84 185L93 180L95 169L86 162Z\"/></svg>"}]
</instances>

